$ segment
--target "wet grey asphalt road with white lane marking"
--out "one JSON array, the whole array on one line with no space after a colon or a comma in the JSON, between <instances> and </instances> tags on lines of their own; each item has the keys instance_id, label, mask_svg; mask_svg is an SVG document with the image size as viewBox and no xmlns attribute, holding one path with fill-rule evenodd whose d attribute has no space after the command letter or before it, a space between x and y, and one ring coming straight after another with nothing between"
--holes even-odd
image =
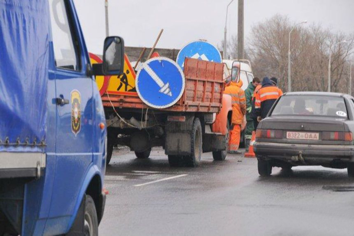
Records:
<instances>
[{"instance_id":1,"label":"wet grey asphalt road with white lane marking","mask_svg":"<svg viewBox=\"0 0 354 236\"><path fill-rule=\"evenodd\" d=\"M255 158L202 156L198 168L171 168L164 151L147 160L114 153L99 235L354 235L354 181L347 170L273 168Z\"/></svg>"}]
</instances>

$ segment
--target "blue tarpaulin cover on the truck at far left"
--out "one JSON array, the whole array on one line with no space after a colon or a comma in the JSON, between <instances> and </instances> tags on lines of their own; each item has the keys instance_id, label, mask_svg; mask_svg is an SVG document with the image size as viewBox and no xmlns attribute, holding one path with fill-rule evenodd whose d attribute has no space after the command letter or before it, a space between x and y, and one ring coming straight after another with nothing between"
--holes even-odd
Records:
<instances>
[{"instance_id":1,"label":"blue tarpaulin cover on the truck at far left","mask_svg":"<svg viewBox=\"0 0 354 236\"><path fill-rule=\"evenodd\" d=\"M48 0L0 0L0 151L42 151L24 143L46 137L48 9Z\"/></svg>"}]
</instances>

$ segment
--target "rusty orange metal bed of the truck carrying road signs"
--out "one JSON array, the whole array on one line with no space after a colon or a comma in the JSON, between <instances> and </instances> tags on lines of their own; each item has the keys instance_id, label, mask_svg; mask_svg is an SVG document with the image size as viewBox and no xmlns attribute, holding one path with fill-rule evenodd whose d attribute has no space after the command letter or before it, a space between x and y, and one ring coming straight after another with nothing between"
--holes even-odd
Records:
<instances>
[{"instance_id":1,"label":"rusty orange metal bed of the truck carrying road signs","mask_svg":"<svg viewBox=\"0 0 354 236\"><path fill-rule=\"evenodd\" d=\"M185 88L182 98L159 111L219 112L222 105L223 64L186 58L184 61ZM151 108L143 103L137 93L104 93L103 106L115 108Z\"/></svg>"}]
</instances>

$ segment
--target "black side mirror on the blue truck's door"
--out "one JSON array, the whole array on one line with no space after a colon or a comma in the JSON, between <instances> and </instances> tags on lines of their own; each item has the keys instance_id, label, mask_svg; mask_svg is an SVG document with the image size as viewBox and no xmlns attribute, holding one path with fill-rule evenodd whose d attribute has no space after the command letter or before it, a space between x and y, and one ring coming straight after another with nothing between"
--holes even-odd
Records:
<instances>
[{"instance_id":1,"label":"black side mirror on the blue truck's door","mask_svg":"<svg viewBox=\"0 0 354 236\"><path fill-rule=\"evenodd\" d=\"M110 36L104 40L103 68L104 75L121 75L124 70L124 40Z\"/></svg>"}]
</instances>

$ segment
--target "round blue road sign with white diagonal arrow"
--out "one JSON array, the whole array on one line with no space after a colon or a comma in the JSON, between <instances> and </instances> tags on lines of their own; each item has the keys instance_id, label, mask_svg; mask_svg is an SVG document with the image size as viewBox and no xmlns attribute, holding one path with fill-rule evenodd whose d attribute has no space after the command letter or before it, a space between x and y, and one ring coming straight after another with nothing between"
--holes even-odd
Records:
<instances>
[{"instance_id":1,"label":"round blue road sign with white diagonal arrow","mask_svg":"<svg viewBox=\"0 0 354 236\"><path fill-rule=\"evenodd\" d=\"M135 79L139 98L154 108L174 105L181 98L184 85L181 67L175 61L164 57L145 61Z\"/></svg>"}]
</instances>

